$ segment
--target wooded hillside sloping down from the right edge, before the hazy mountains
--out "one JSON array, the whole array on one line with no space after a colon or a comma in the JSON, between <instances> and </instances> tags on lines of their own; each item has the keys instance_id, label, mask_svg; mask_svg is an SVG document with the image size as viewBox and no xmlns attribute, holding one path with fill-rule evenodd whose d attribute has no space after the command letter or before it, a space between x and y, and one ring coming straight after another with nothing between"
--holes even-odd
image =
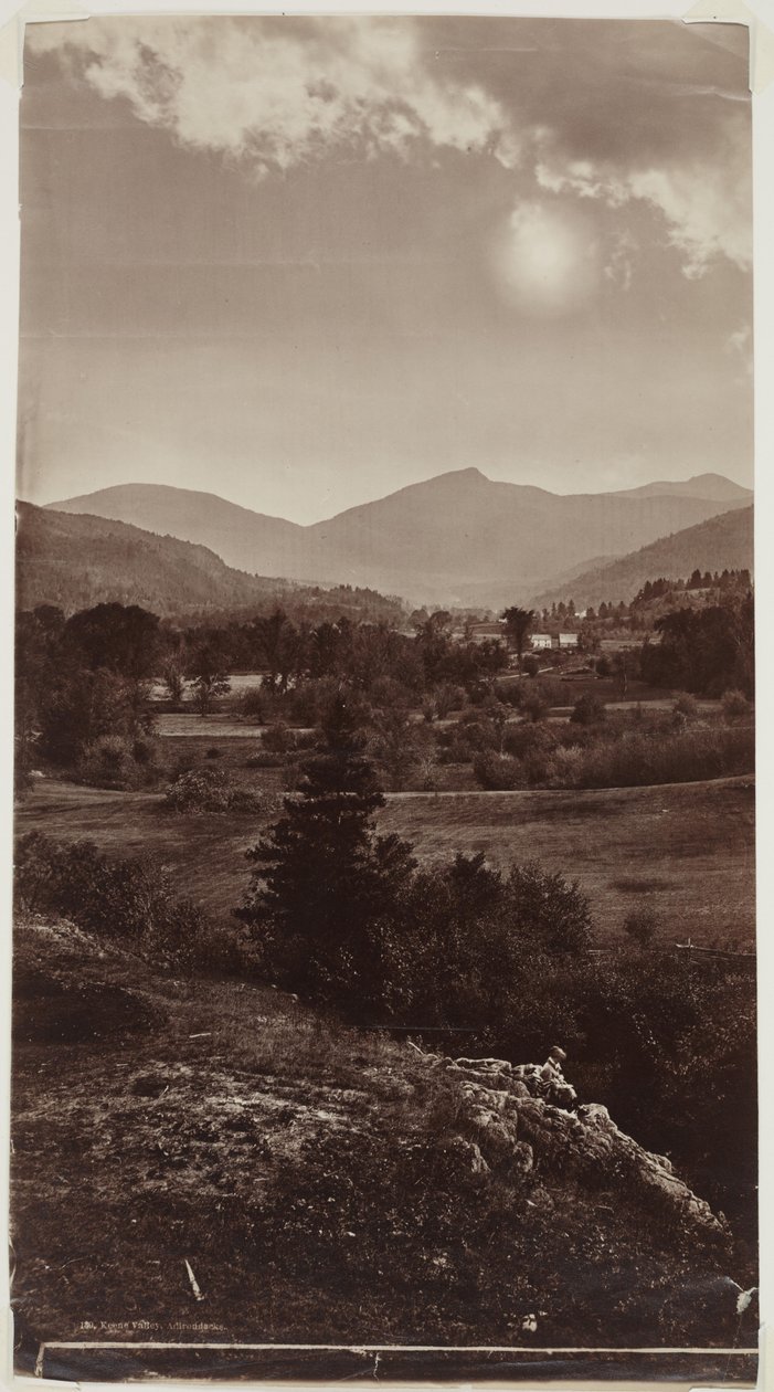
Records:
<instances>
[{"instance_id":1,"label":"wooded hillside sloping down from the right edge, before the hazy mountains","mask_svg":"<svg viewBox=\"0 0 774 1392\"><path fill-rule=\"evenodd\" d=\"M574 599L578 606L633 600L646 580L658 576L688 579L699 568L704 571L741 571L753 568L753 509L734 508L718 516L699 522L650 546L622 555L604 565L596 565L569 576L553 589L536 594L536 606Z\"/></svg>"}]
</instances>

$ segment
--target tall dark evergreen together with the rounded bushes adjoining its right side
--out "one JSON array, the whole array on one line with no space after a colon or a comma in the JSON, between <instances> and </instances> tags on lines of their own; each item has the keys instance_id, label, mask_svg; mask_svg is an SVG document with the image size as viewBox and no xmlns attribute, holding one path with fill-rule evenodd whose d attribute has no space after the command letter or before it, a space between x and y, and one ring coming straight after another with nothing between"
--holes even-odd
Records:
<instances>
[{"instance_id":1,"label":"tall dark evergreen together with the rounded bushes adjoining its right side","mask_svg":"<svg viewBox=\"0 0 774 1392\"><path fill-rule=\"evenodd\" d=\"M587 945L587 905L561 877L533 866L503 876L461 855L419 870L408 842L376 834L384 798L345 696L323 739L299 796L249 852L258 869L237 910L278 984L345 1013L418 1011L451 1026L523 974L525 951Z\"/></svg>"}]
</instances>

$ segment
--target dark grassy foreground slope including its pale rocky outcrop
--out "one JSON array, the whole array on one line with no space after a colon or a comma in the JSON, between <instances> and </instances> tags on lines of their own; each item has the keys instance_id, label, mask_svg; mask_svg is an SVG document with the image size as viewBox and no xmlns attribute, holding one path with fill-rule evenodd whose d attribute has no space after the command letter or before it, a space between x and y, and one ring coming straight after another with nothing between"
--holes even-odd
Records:
<instances>
[{"instance_id":1,"label":"dark grassy foreground slope including its pale rocky outcrop","mask_svg":"<svg viewBox=\"0 0 774 1392\"><path fill-rule=\"evenodd\" d=\"M84 1328L129 1343L738 1338L749 1272L724 1219L604 1108L558 1111L507 1063L345 1031L273 991L175 980L65 923L19 926L15 1002L22 1368Z\"/></svg>"}]
</instances>

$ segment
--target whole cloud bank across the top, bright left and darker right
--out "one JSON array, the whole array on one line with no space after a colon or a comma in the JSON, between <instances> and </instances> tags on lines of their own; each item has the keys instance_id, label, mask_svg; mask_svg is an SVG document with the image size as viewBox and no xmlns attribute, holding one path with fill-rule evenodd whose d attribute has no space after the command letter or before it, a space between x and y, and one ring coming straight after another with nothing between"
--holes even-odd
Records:
<instances>
[{"instance_id":1,"label":"whole cloud bank across the top, bright left and darker right","mask_svg":"<svg viewBox=\"0 0 774 1392\"><path fill-rule=\"evenodd\" d=\"M684 29L121 17L33 24L28 43L182 146L259 178L326 157L457 150L518 171L535 206L544 193L579 210L645 206L696 281L724 262L750 266L749 102L742 58ZM603 280L625 290L638 246L619 223Z\"/></svg>"}]
</instances>

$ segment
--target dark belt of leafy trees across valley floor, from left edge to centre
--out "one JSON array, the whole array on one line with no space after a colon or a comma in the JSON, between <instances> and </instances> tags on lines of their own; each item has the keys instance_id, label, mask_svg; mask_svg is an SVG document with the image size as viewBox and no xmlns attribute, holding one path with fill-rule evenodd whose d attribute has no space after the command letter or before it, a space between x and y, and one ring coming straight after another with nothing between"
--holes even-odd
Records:
<instances>
[{"instance_id":1,"label":"dark belt of leafy trees across valley floor, from left edge to centre","mask_svg":"<svg viewBox=\"0 0 774 1392\"><path fill-rule=\"evenodd\" d=\"M505 665L501 643L455 639L444 611L404 633L345 615L313 625L283 608L180 629L138 606L97 604L70 618L39 606L17 624L19 753L24 763L38 741L45 757L72 764L103 735L148 734L149 681L159 675L173 704L189 692L207 714L235 670L260 671L269 697L303 682L345 681L363 693L391 682L393 695L420 702L451 683L480 689Z\"/></svg>"}]
</instances>

